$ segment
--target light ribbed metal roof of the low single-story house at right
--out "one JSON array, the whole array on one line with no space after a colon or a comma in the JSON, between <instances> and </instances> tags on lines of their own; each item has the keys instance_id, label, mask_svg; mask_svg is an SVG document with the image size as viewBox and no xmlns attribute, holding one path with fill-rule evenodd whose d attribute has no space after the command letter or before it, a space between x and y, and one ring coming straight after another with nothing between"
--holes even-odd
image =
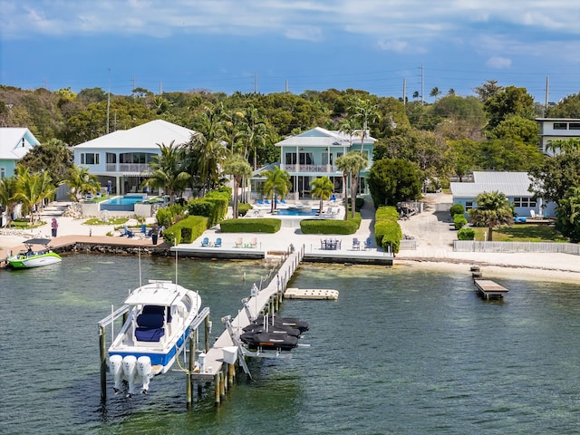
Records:
<instances>
[{"instance_id":1,"label":"light ribbed metal roof of the low single-story house at right","mask_svg":"<svg viewBox=\"0 0 580 435\"><path fill-rule=\"evenodd\" d=\"M473 183L449 183L454 198L475 198L482 192L499 191L506 197L533 197L527 172L473 172Z\"/></svg>"}]
</instances>

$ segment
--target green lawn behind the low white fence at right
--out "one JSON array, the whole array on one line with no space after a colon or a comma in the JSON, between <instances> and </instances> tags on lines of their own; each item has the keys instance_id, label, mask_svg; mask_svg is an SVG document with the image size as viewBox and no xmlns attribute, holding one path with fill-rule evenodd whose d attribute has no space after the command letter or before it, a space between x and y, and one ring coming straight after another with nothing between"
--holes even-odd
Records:
<instances>
[{"instance_id":1,"label":"green lawn behind the low white fence at right","mask_svg":"<svg viewBox=\"0 0 580 435\"><path fill-rule=\"evenodd\" d=\"M484 240L487 228L474 227L475 239ZM552 225L546 224L515 224L494 228L494 242L567 242L568 239L556 231Z\"/></svg>"}]
</instances>

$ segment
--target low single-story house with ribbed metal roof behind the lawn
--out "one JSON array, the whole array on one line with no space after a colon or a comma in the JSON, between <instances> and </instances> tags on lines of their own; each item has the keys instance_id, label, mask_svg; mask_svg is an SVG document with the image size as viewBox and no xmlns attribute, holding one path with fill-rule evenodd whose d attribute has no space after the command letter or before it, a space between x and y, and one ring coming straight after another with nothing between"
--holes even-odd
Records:
<instances>
[{"instance_id":1,"label":"low single-story house with ribbed metal roof behind the lawn","mask_svg":"<svg viewBox=\"0 0 580 435\"><path fill-rule=\"evenodd\" d=\"M528 189L531 180L527 172L473 172L473 182L450 183L453 204L461 204L466 211L476 208L475 198L483 192L499 191L514 204L519 217L533 214L544 217L556 216L556 204L535 198ZM532 213L533 211L533 213Z\"/></svg>"}]
</instances>

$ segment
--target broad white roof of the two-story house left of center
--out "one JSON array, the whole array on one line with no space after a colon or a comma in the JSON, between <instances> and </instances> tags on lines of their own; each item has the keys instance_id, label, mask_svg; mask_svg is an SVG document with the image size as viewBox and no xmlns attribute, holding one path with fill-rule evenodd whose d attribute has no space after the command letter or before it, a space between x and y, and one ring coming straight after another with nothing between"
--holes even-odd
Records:
<instances>
[{"instance_id":1,"label":"broad white roof of the two-story house left of center","mask_svg":"<svg viewBox=\"0 0 580 435\"><path fill-rule=\"evenodd\" d=\"M168 121L155 120L133 127L130 130L113 131L100 138L88 140L76 145L75 149L123 149L139 148L143 150L159 150L158 143L169 145L175 140L175 145L189 142L193 130L186 129Z\"/></svg>"}]
</instances>

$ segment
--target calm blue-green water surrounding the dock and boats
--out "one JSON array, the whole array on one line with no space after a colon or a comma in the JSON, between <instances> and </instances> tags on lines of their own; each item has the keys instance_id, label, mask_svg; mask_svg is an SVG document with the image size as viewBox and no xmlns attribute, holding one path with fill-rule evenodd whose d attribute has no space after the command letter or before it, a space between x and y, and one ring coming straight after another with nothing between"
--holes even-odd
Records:
<instances>
[{"instance_id":1,"label":"calm blue-green water surrounding the dock and boats","mask_svg":"<svg viewBox=\"0 0 580 435\"><path fill-rule=\"evenodd\" d=\"M144 258L143 278L174 277ZM138 284L136 258L72 255L36 270L0 271L0 433L422 434L578 433L580 285L497 279L485 302L469 275L413 268L305 265L293 286L338 301L285 301L311 325L292 360L252 361L222 406L213 388L191 411L169 372L150 394L100 403L97 322ZM221 316L266 269L184 260L179 283ZM244 281L246 275L246 281ZM492 276L486 276L493 278Z\"/></svg>"}]
</instances>

